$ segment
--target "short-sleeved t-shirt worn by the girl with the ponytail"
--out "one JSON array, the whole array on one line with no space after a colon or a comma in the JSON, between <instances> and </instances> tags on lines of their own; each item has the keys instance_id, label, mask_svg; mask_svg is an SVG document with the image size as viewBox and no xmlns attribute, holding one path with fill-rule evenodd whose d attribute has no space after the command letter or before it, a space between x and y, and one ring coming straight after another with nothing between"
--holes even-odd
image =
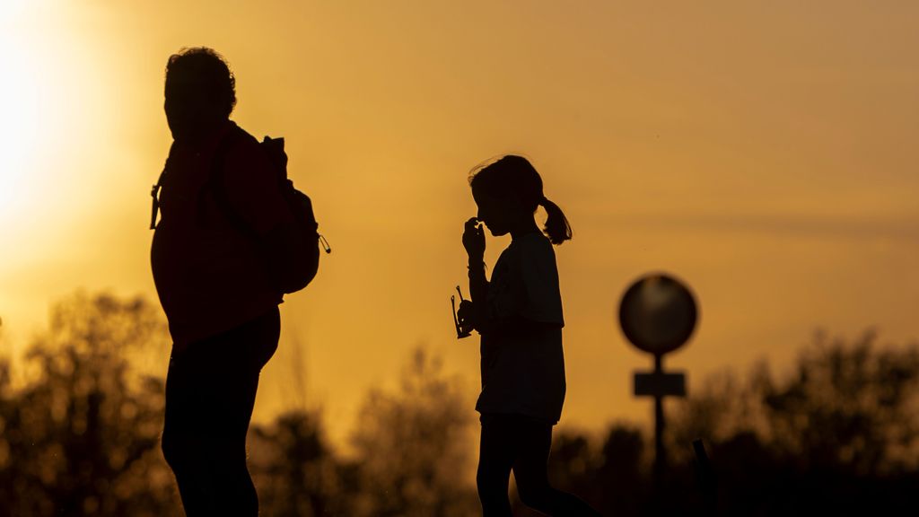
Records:
<instances>
[{"instance_id":1,"label":"short-sleeved t-shirt worn by the girl with the ponytail","mask_svg":"<svg viewBox=\"0 0 919 517\"><path fill-rule=\"evenodd\" d=\"M482 333L480 413L558 422L565 397L562 295L546 236L516 237L494 265Z\"/></svg>"}]
</instances>

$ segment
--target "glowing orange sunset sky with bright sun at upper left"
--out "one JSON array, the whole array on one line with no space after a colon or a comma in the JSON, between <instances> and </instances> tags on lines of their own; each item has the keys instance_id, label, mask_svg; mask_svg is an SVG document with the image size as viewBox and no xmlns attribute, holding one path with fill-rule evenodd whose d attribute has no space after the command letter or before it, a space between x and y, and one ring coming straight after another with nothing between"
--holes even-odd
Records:
<instances>
[{"instance_id":1,"label":"glowing orange sunset sky with bright sun at upper left","mask_svg":"<svg viewBox=\"0 0 919 517\"><path fill-rule=\"evenodd\" d=\"M477 342L455 339L448 300L466 274L467 173L508 152L532 159L575 230L557 249L563 425L649 417L630 375L651 361L614 320L648 270L697 292L696 338L667 361L690 391L725 367L787 364L817 327L919 336L914 2L17 0L0 20L14 353L78 287L154 296L163 68L195 45L230 62L233 119L286 138L335 247L283 305L257 418L301 401L301 361L342 436L418 343L474 399ZM506 244L490 238L487 258Z\"/></svg>"}]
</instances>

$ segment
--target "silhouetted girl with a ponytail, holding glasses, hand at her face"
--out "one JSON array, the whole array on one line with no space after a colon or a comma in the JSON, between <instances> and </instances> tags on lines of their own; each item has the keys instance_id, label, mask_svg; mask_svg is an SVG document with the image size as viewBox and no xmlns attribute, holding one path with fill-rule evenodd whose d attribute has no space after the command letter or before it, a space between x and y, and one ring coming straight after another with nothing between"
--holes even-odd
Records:
<instances>
[{"instance_id":1,"label":"silhouetted girl with a ponytail, holding glasses, hand at her face","mask_svg":"<svg viewBox=\"0 0 919 517\"><path fill-rule=\"evenodd\" d=\"M598 515L583 500L551 488L546 462L552 426L562 415L562 296L552 245L572 237L562 210L542 194L542 179L526 158L507 155L470 178L478 217L462 236L469 254L471 301L460 324L482 335L482 442L477 476L485 517L511 515L507 483L514 470L520 500L549 515ZM549 218L543 231L538 206ZM485 279L485 236L511 235L511 244ZM548 236L548 238L547 238Z\"/></svg>"}]
</instances>

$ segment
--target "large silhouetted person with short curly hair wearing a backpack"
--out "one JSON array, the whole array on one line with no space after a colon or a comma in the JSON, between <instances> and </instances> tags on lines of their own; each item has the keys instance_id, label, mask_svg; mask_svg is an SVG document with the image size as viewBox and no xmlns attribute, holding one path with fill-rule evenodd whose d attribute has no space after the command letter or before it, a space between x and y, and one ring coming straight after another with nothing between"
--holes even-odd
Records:
<instances>
[{"instance_id":1,"label":"large silhouetted person with short curly hair wearing a backpack","mask_svg":"<svg viewBox=\"0 0 919 517\"><path fill-rule=\"evenodd\" d=\"M285 256L271 248L290 246L293 216L278 187L283 170L229 119L235 80L221 56L183 50L165 72L174 142L151 250L173 338L163 454L187 515L255 516L245 437L282 301L267 258Z\"/></svg>"}]
</instances>

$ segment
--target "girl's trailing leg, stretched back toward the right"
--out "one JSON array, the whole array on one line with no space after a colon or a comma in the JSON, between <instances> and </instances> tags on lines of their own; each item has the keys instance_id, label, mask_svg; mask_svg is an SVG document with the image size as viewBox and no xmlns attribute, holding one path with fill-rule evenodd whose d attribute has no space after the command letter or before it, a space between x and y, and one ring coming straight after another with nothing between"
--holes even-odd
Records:
<instances>
[{"instance_id":1,"label":"girl's trailing leg, stretched back toward the right","mask_svg":"<svg viewBox=\"0 0 919 517\"><path fill-rule=\"evenodd\" d=\"M584 500L550 486L546 464L549 461L552 443L552 426L548 423L522 420L518 429L519 452L514 464L514 478L520 500L528 507L547 515L600 515Z\"/></svg>"}]
</instances>

